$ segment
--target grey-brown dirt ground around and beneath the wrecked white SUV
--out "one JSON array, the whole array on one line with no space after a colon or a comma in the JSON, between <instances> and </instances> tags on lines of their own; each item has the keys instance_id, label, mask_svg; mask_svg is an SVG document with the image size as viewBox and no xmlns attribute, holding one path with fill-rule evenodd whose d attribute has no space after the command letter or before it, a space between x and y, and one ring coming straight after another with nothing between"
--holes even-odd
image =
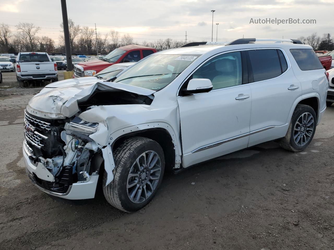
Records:
<instances>
[{"instance_id":1,"label":"grey-brown dirt ground around and beneath the wrecked white SUV","mask_svg":"<svg viewBox=\"0 0 334 250\"><path fill-rule=\"evenodd\" d=\"M334 105L307 150L268 142L166 174L127 214L101 190L68 201L31 184L23 111L38 91L0 90L0 249L334 249Z\"/></svg>"}]
</instances>

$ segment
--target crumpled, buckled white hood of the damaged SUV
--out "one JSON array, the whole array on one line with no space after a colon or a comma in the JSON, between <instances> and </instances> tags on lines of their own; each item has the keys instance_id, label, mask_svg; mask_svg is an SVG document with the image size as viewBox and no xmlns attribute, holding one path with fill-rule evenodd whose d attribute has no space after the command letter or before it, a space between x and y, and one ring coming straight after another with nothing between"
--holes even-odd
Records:
<instances>
[{"instance_id":1,"label":"crumpled, buckled white hood of the damaged SUV","mask_svg":"<svg viewBox=\"0 0 334 250\"><path fill-rule=\"evenodd\" d=\"M155 92L154 90L118 82L100 81L95 83L66 85L58 88L50 88L47 92L38 93L30 99L27 105L27 111L32 115L48 119L64 119L66 117L71 117L80 111L78 102L80 103L88 100L96 89L100 91L123 90L147 96L152 95Z\"/></svg>"}]
</instances>

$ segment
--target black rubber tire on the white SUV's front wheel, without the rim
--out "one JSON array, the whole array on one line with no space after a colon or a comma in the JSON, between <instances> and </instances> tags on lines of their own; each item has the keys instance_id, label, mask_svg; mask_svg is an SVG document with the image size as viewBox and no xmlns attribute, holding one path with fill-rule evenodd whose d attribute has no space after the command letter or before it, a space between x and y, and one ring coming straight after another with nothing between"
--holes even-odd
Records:
<instances>
[{"instance_id":1,"label":"black rubber tire on the white SUV's front wheel, without the rim","mask_svg":"<svg viewBox=\"0 0 334 250\"><path fill-rule=\"evenodd\" d=\"M152 194L141 203L134 203L127 193L128 174L132 164L146 151L155 151L161 162L160 177ZM107 201L114 207L124 212L135 212L145 207L156 194L163 178L165 170L165 157L159 143L145 137L133 137L125 140L114 152L115 169L114 180L106 186L107 172L103 175L103 193Z\"/></svg>"}]
</instances>

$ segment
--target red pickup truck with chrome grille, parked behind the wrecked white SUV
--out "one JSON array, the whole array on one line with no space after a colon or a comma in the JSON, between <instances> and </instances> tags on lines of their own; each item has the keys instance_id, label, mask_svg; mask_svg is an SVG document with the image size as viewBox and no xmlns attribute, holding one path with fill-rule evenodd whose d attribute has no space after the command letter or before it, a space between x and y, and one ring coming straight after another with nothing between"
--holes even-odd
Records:
<instances>
[{"instance_id":1,"label":"red pickup truck with chrome grille, parked behind the wrecked white SUV","mask_svg":"<svg viewBox=\"0 0 334 250\"><path fill-rule=\"evenodd\" d=\"M94 76L101 70L123 62L138 62L140 59L157 52L156 49L130 44L117 48L102 59L78 63L74 65L74 77Z\"/></svg>"}]
</instances>

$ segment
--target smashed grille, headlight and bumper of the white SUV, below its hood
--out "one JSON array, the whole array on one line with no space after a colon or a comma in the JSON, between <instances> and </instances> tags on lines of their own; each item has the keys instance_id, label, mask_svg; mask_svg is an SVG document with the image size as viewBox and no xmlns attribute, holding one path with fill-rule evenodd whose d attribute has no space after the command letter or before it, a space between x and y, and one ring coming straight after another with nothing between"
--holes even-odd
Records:
<instances>
[{"instance_id":1,"label":"smashed grille, headlight and bumper of the white SUV, below its hood","mask_svg":"<svg viewBox=\"0 0 334 250\"><path fill-rule=\"evenodd\" d=\"M94 198L103 157L89 135L98 128L98 123L83 122L76 116L52 120L25 112L23 155L29 178L56 196Z\"/></svg>"}]
</instances>

